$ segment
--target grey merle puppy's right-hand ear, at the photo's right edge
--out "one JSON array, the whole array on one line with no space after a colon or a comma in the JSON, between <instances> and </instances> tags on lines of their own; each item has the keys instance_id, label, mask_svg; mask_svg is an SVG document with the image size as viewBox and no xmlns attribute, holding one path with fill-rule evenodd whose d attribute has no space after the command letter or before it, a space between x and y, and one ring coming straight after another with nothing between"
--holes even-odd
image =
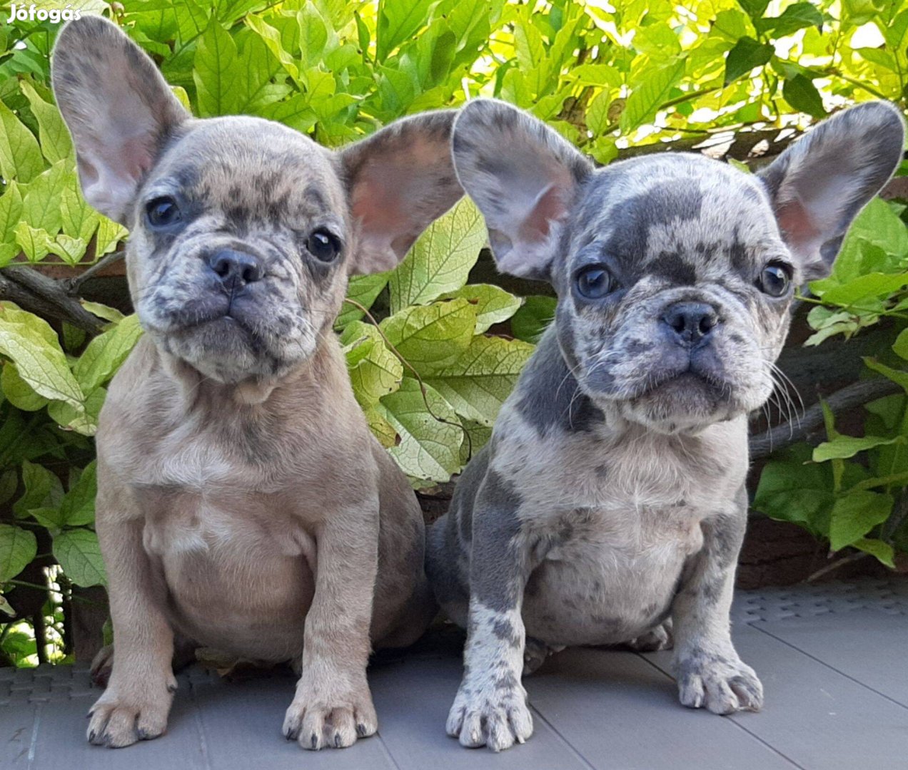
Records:
<instances>
[{"instance_id":1,"label":"grey merle puppy's right-hand ear, at the photo's right edge","mask_svg":"<svg viewBox=\"0 0 908 770\"><path fill-rule=\"evenodd\" d=\"M760 172L804 278L823 278L867 201L902 158L904 123L888 102L839 112Z\"/></svg>"}]
</instances>

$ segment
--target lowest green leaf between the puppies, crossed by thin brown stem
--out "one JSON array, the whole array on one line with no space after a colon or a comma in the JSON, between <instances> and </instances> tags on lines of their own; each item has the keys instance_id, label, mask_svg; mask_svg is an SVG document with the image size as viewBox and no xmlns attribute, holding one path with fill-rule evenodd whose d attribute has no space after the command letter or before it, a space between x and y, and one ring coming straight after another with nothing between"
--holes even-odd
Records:
<instances>
[{"instance_id":1,"label":"lowest green leaf between the puppies, crossed by thin brown stem","mask_svg":"<svg viewBox=\"0 0 908 770\"><path fill-rule=\"evenodd\" d=\"M419 383L404 377L375 408L399 436L389 452L400 469L414 479L446 482L459 470L463 431L444 398L429 385L425 389L424 400Z\"/></svg>"}]
</instances>

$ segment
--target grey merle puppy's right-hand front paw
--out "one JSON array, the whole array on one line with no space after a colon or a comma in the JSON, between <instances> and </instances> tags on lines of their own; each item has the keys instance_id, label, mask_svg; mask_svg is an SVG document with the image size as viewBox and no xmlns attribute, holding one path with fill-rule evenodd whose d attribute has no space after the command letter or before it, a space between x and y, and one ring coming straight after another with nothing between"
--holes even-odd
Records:
<instances>
[{"instance_id":1,"label":"grey merle puppy's right-hand front paw","mask_svg":"<svg viewBox=\"0 0 908 770\"><path fill-rule=\"evenodd\" d=\"M754 669L736 656L694 655L679 660L676 672L678 697L686 707L706 707L714 714L763 707L763 685Z\"/></svg>"}]
</instances>

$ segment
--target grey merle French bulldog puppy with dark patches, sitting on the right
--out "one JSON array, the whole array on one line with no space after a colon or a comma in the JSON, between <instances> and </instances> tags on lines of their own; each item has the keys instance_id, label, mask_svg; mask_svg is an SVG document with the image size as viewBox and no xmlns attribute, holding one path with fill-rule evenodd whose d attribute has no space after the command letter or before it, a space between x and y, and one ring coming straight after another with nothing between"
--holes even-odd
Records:
<instances>
[{"instance_id":1,"label":"grey merle French bulldog puppy with dark patches, sitting on the right","mask_svg":"<svg viewBox=\"0 0 908 770\"><path fill-rule=\"evenodd\" d=\"M795 287L828 274L902 157L902 118L841 112L755 176L676 153L596 170L484 100L452 147L498 268L548 280L558 309L429 531L429 581L468 629L449 735L525 741L525 651L658 646L666 619L685 706L760 708L729 633L747 414L772 393Z\"/></svg>"}]
</instances>

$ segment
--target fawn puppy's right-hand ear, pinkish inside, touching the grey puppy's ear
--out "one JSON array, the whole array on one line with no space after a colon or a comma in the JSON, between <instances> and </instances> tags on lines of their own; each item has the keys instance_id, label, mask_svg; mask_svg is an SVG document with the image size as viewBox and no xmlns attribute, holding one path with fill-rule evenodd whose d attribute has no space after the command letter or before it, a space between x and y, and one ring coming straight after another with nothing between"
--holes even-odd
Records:
<instances>
[{"instance_id":1,"label":"fawn puppy's right-hand ear, pinkish inside, touching the grey puppy's ear","mask_svg":"<svg viewBox=\"0 0 908 770\"><path fill-rule=\"evenodd\" d=\"M393 122L341 151L359 245L350 273L379 273L463 195L451 162L454 111Z\"/></svg>"}]
</instances>

